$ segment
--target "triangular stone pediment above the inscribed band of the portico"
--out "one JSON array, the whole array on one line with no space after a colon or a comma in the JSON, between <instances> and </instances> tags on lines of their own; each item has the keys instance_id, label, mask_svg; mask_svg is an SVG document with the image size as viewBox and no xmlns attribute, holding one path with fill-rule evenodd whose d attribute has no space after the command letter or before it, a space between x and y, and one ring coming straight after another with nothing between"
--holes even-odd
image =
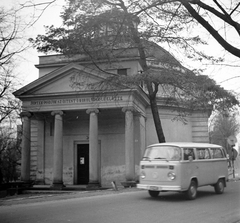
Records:
<instances>
[{"instance_id":1,"label":"triangular stone pediment above the inscribed band of the portico","mask_svg":"<svg viewBox=\"0 0 240 223\"><path fill-rule=\"evenodd\" d=\"M108 74L71 63L14 92L15 96L97 90ZM100 89L99 89L100 90Z\"/></svg>"}]
</instances>

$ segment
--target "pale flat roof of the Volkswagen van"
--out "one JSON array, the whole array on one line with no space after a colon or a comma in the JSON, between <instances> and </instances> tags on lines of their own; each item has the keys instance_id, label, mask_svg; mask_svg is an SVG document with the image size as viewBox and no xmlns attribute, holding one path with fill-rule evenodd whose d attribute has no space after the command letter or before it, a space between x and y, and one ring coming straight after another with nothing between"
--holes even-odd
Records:
<instances>
[{"instance_id":1,"label":"pale flat roof of the Volkswagen van","mask_svg":"<svg viewBox=\"0 0 240 223\"><path fill-rule=\"evenodd\" d=\"M156 143L149 145L148 147L152 146L179 146L179 147L195 147L195 148L201 148L201 147L215 147L219 148L220 145L211 144L211 143L196 143L196 142L165 142L165 143Z\"/></svg>"}]
</instances>

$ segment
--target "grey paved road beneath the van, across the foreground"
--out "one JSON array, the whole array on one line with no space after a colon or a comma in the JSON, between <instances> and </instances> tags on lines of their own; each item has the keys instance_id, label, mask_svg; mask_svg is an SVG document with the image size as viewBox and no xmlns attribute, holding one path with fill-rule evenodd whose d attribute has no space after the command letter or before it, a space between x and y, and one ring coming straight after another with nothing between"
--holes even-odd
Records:
<instances>
[{"instance_id":1,"label":"grey paved road beneath the van, across the foreground","mask_svg":"<svg viewBox=\"0 0 240 223\"><path fill-rule=\"evenodd\" d=\"M65 198L67 195L64 195ZM198 198L162 193L150 198L146 191L91 192L0 206L1 223L239 223L240 181L229 182L225 193L199 188ZM49 200L51 199L51 200ZM6 203L4 203L6 204Z\"/></svg>"}]
</instances>

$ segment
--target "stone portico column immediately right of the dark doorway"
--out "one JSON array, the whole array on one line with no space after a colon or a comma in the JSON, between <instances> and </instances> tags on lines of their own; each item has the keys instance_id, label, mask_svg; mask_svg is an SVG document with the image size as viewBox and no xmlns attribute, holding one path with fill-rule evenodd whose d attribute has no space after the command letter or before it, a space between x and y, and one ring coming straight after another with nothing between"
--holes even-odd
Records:
<instances>
[{"instance_id":1,"label":"stone portico column immediately right of the dark doorway","mask_svg":"<svg viewBox=\"0 0 240 223\"><path fill-rule=\"evenodd\" d=\"M89 183L88 187L99 187L99 151L98 151L98 109L88 109L89 123Z\"/></svg>"}]
</instances>

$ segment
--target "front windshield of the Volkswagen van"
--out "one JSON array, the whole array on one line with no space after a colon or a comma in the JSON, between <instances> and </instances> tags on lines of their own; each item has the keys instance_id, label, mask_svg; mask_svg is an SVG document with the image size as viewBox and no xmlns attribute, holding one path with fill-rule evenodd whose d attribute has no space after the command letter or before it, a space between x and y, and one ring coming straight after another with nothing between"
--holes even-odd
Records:
<instances>
[{"instance_id":1,"label":"front windshield of the Volkswagen van","mask_svg":"<svg viewBox=\"0 0 240 223\"><path fill-rule=\"evenodd\" d=\"M175 146L152 146L144 153L143 160L174 160L181 159L181 149Z\"/></svg>"}]
</instances>

